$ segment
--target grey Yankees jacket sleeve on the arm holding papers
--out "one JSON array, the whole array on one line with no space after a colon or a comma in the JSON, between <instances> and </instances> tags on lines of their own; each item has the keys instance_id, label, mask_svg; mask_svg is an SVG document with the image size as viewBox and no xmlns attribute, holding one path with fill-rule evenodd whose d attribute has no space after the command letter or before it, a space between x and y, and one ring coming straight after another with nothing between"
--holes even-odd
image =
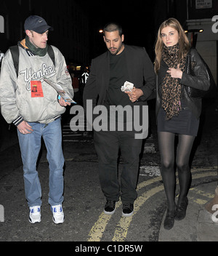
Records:
<instances>
[{"instance_id":1,"label":"grey Yankees jacket sleeve on the arm holding papers","mask_svg":"<svg viewBox=\"0 0 218 256\"><path fill-rule=\"evenodd\" d=\"M70 78L70 73L68 72L68 68L65 62L65 58L63 57L62 53L59 49L52 46L55 52L55 69L57 71L57 83L60 84L62 89L73 98L73 86L72 80Z\"/></svg>"}]
</instances>

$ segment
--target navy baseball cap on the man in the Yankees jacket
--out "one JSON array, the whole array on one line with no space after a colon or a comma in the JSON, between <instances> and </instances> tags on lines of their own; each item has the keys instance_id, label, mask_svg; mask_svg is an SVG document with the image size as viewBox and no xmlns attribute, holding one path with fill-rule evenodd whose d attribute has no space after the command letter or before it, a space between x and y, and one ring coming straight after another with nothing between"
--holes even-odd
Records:
<instances>
[{"instance_id":1,"label":"navy baseball cap on the man in the Yankees jacket","mask_svg":"<svg viewBox=\"0 0 218 256\"><path fill-rule=\"evenodd\" d=\"M25 20L24 29L36 33L45 33L47 30L53 31L53 28L47 24L44 18L37 15L31 15Z\"/></svg>"}]
</instances>

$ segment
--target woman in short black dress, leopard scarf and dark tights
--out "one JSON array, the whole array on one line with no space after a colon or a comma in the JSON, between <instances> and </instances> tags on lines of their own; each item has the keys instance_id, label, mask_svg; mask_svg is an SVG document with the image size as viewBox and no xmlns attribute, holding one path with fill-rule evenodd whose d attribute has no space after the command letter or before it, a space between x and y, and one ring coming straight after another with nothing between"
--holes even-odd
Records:
<instances>
[{"instance_id":1,"label":"woman in short black dress, leopard scarf and dark tights","mask_svg":"<svg viewBox=\"0 0 218 256\"><path fill-rule=\"evenodd\" d=\"M190 52L192 74L185 73L185 60ZM158 75L156 115L158 144L161 153L161 175L167 199L164 228L171 229L174 220L182 220L187 209L190 188L190 152L198 134L201 99L188 97L185 86L209 89L209 79L201 57L190 43L178 20L164 21L156 41L155 71ZM178 135L175 151L174 139ZM176 157L175 157L176 155ZM174 158L175 163L174 163ZM179 198L175 203L176 177L179 177Z\"/></svg>"}]
</instances>

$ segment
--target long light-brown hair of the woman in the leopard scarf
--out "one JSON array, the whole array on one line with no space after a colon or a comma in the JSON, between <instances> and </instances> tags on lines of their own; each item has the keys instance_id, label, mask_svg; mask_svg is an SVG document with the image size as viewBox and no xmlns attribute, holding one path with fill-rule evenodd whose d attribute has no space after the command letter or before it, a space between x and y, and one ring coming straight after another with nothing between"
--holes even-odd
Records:
<instances>
[{"instance_id":1,"label":"long light-brown hair of the woman in the leopard scarf","mask_svg":"<svg viewBox=\"0 0 218 256\"><path fill-rule=\"evenodd\" d=\"M163 41L161 37L161 31L163 28L166 27L174 28L179 33L179 60L181 60L183 57L187 55L187 52L190 49L190 42L187 39L187 36L185 35L185 32L182 28L182 25L179 23L178 20L174 19L173 17L169 18L168 20L165 20L159 30L158 30L158 36L156 39L156 60L155 60L155 71L158 73L158 70L160 69L161 65L161 55L163 51Z\"/></svg>"}]
</instances>

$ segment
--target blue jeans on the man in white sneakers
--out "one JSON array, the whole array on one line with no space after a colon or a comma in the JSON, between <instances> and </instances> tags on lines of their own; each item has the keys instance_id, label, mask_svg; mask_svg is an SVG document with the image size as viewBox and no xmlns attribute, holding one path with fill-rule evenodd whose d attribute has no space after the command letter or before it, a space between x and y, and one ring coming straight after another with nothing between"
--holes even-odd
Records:
<instances>
[{"instance_id":1,"label":"blue jeans on the man in white sneakers","mask_svg":"<svg viewBox=\"0 0 218 256\"><path fill-rule=\"evenodd\" d=\"M33 132L21 134L17 129L23 160L25 198L29 207L41 206L41 184L36 162L41 149L41 137L47 148L49 162L49 204L55 206L63 201L63 165L61 119L50 124L29 123Z\"/></svg>"}]
</instances>

